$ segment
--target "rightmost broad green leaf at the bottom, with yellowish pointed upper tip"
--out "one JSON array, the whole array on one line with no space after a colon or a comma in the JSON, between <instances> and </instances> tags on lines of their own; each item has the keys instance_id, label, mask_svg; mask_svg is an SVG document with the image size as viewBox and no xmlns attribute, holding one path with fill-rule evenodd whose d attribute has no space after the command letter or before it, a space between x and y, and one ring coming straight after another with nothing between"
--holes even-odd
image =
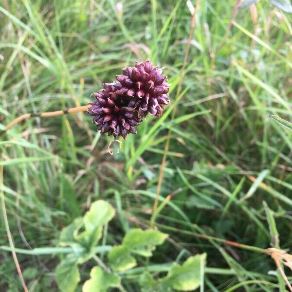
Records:
<instances>
[{"instance_id":1,"label":"rightmost broad green leaf at the bottom, with yellowish pointed upper tip","mask_svg":"<svg viewBox=\"0 0 292 292\"><path fill-rule=\"evenodd\" d=\"M200 287L201 283L201 264L205 265L206 254L189 257L183 265L174 263L164 284L178 291L192 291Z\"/></svg>"}]
</instances>

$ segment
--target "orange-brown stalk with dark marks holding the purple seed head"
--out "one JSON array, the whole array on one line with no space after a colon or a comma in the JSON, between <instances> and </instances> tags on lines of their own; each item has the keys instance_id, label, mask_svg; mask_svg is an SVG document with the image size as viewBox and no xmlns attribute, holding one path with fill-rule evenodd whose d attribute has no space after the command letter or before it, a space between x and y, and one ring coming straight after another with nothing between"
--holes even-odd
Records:
<instances>
[{"instance_id":1,"label":"orange-brown stalk with dark marks holding the purple seed head","mask_svg":"<svg viewBox=\"0 0 292 292\"><path fill-rule=\"evenodd\" d=\"M88 110L89 107L90 107L90 105L71 108L68 110L56 110L56 111L47 111L47 112L41 112L41 113L25 113L25 114L19 116L18 118L16 118L15 120L13 120L9 125L7 125L4 128L4 130L2 130L0 132L0 135L27 118L31 118L31 117L42 117L42 118L55 117L55 116L62 115L62 114L70 114L70 113L75 113L75 112L79 112L79 111L86 111L86 110Z\"/></svg>"}]
</instances>

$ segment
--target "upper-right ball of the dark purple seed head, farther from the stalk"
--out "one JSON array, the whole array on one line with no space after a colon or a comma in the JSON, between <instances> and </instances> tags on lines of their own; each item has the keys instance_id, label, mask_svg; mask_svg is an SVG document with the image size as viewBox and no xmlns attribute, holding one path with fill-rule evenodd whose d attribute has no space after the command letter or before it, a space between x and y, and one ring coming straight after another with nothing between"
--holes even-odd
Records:
<instances>
[{"instance_id":1,"label":"upper-right ball of the dark purple seed head, farther from the stalk","mask_svg":"<svg viewBox=\"0 0 292 292\"><path fill-rule=\"evenodd\" d=\"M132 97L130 106L138 110L138 117L145 117L149 112L161 116L164 105L170 104L167 77L162 75L162 68L154 67L150 60L136 62L135 67L126 67L123 75L117 75L118 91Z\"/></svg>"}]
</instances>

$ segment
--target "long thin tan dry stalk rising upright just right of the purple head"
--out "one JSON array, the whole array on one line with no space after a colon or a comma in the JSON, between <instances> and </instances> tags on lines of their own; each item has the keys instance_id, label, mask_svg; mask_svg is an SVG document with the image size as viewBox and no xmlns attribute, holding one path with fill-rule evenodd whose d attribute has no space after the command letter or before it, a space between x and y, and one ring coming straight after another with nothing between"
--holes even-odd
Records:
<instances>
[{"instance_id":1,"label":"long thin tan dry stalk rising upright just right of the purple head","mask_svg":"<svg viewBox=\"0 0 292 292\"><path fill-rule=\"evenodd\" d=\"M193 34L194 34L194 29L195 29L195 25L196 25L196 19L197 19L199 6L200 6L200 1L201 0L197 0L195 11L194 11L194 13L192 15L192 18L191 18L191 30L190 30L190 34L189 34L189 37L188 37L188 40L187 40L187 45L186 45L186 48L185 48L185 53L184 53L184 57L183 57L183 67L182 67L182 71L181 71L181 76L180 76L180 80L179 80L179 84L178 84L178 90L177 90L177 93L176 93L175 101L178 99L178 97L179 97L179 95L181 93L181 90L182 90L184 71L185 71L185 67L186 67L186 64L187 64L187 58L188 58L188 55L189 55L191 41L192 41ZM172 110L172 119L174 118L176 108L177 108L177 105ZM163 159L162 159L161 167L160 167L160 172L159 172L158 184L157 184L157 189L156 189L156 197L155 197L155 201L154 201L154 205L153 205L153 214L156 213L156 210L157 210L157 207L158 207L158 198L159 198L159 195L160 195L161 186L162 186L162 182L163 182L164 166L165 166L165 162L166 162L167 152L168 152L168 149L169 149L170 137L171 137L171 129L169 128L168 129L168 133L167 133L166 142L165 142L165 147L164 147L164 155L163 155Z\"/></svg>"}]
</instances>

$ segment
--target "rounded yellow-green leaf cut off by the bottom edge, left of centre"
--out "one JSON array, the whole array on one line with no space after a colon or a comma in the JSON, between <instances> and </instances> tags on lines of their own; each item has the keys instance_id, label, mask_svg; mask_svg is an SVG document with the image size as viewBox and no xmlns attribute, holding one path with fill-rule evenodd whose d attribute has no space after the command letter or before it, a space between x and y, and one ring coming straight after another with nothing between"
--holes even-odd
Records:
<instances>
[{"instance_id":1,"label":"rounded yellow-green leaf cut off by the bottom edge, left of centre","mask_svg":"<svg viewBox=\"0 0 292 292\"><path fill-rule=\"evenodd\" d=\"M55 277L60 291L74 292L80 281L80 274L76 262L66 257L56 267Z\"/></svg>"}]
</instances>

